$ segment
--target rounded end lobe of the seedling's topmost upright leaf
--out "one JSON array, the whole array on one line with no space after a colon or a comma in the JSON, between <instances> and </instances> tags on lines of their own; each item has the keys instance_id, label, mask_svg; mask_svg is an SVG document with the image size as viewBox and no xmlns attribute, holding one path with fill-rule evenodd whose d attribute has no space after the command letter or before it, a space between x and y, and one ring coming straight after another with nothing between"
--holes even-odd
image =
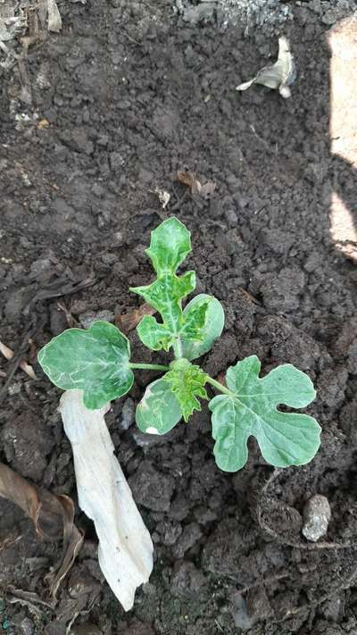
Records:
<instances>
[{"instance_id":1,"label":"rounded end lobe of the seedling's topmost upright leaf","mask_svg":"<svg viewBox=\"0 0 357 635\"><path fill-rule=\"evenodd\" d=\"M146 254L158 276L175 273L191 251L191 234L174 216L163 221L152 231L151 243Z\"/></svg>"}]
</instances>

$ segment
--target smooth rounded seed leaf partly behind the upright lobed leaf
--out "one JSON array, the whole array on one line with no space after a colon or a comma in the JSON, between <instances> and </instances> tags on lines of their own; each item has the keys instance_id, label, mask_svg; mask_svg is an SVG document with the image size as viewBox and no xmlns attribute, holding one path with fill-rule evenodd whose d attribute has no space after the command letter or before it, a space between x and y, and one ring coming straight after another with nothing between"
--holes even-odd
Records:
<instances>
[{"instance_id":1,"label":"smooth rounded seed leaf partly behind the upright lobed leaf","mask_svg":"<svg viewBox=\"0 0 357 635\"><path fill-rule=\"evenodd\" d=\"M203 322L200 310L204 310ZM196 318L198 315L198 319ZM184 310L185 323L191 325L195 337L187 338L187 330L182 330L183 355L192 360L211 350L224 327L223 306L216 297L201 293L194 297Z\"/></svg>"}]
</instances>

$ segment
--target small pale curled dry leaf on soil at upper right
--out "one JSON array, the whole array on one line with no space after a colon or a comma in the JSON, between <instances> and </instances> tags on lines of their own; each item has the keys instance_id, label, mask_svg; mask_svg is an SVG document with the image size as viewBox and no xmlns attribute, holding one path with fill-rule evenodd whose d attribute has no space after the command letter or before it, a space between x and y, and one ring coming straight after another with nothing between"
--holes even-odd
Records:
<instances>
[{"instance_id":1,"label":"small pale curled dry leaf on soil at upper right","mask_svg":"<svg viewBox=\"0 0 357 635\"><path fill-rule=\"evenodd\" d=\"M287 98L291 96L289 84L292 84L294 80L294 57L291 54L288 39L282 36L278 38L277 62L264 66L253 79L240 84L236 90L246 90L252 84L262 84L262 86L267 86L268 88L278 88L280 95Z\"/></svg>"}]
</instances>

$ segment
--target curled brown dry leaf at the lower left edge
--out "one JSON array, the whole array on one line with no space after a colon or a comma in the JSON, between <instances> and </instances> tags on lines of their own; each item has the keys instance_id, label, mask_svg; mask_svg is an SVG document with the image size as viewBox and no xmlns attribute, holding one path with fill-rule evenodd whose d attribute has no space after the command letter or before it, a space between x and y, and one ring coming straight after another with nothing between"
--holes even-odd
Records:
<instances>
[{"instance_id":1,"label":"curled brown dry leaf at the lower left edge","mask_svg":"<svg viewBox=\"0 0 357 635\"><path fill-rule=\"evenodd\" d=\"M0 463L0 497L10 500L28 514L37 534L46 540L63 540L61 562L47 574L51 595L70 571L83 543L83 534L73 522L74 504L70 497L39 491L20 474Z\"/></svg>"}]
</instances>

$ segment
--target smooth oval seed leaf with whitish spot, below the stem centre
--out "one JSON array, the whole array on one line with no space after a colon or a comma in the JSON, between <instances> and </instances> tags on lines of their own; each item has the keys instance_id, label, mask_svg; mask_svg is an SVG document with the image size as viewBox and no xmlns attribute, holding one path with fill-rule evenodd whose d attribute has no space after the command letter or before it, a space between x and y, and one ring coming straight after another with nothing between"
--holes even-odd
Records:
<instances>
[{"instance_id":1,"label":"smooth oval seed leaf with whitish spot, below the stem centre","mask_svg":"<svg viewBox=\"0 0 357 635\"><path fill-rule=\"evenodd\" d=\"M179 402L165 379L153 381L137 405L136 421L142 432L166 434L182 418Z\"/></svg>"}]
</instances>

